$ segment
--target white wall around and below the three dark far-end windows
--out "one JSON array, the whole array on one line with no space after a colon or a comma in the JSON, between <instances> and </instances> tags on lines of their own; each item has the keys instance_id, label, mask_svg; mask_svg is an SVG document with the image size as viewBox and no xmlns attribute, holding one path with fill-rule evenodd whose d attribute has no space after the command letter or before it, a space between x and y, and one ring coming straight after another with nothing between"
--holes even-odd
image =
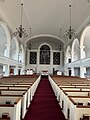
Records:
<instances>
[{"instance_id":1,"label":"white wall around and below the three dark far-end windows","mask_svg":"<svg viewBox=\"0 0 90 120\"><path fill-rule=\"evenodd\" d=\"M34 50L33 50L34 51ZM37 50L38 51L38 50ZM37 52L37 51L35 51L35 52ZM58 52L58 51L57 51ZM32 64L32 65L30 65L29 64L29 55L30 55L30 51L28 51L28 56L27 56L27 69L33 69L33 71L34 72L36 72L36 73L41 73L42 72L42 70L48 70L48 72L50 73L50 74L52 74L53 73L53 68L55 68L55 70L60 70L60 71L62 71L62 53L60 53L60 65L53 65L53 51L51 51L51 60L50 60L50 64L49 65L41 65L41 64L39 64L39 52L37 52L37 64Z\"/></svg>"}]
</instances>

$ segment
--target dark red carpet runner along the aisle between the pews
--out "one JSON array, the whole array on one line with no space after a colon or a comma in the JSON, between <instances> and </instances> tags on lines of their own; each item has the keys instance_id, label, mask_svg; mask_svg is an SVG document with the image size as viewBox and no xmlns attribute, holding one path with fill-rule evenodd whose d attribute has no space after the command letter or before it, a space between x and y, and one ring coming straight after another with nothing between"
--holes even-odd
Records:
<instances>
[{"instance_id":1,"label":"dark red carpet runner along the aisle between the pews","mask_svg":"<svg viewBox=\"0 0 90 120\"><path fill-rule=\"evenodd\" d=\"M24 120L65 120L48 78L42 78Z\"/></svg>"}]
</instances>

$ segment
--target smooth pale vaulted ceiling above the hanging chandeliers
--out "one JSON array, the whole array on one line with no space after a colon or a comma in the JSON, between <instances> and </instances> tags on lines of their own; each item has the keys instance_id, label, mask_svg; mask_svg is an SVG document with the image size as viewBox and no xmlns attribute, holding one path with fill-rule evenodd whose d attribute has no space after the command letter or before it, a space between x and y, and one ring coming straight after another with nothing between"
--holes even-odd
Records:
<instances>
[{"instance_id":1,"label":"smooth pale vaulted ceiling above the hanging chandeliers","mask_svg":"<svg viewBox=\"0 0 90 120\"><path fill-rule=\"evenodd\" d=\"M76 31L90 14L87 0L5 0L0 1L0 16L15 32L20 25L21 3L24 4L23 26L29 37L55 36L63 39L69 27L69 4L72 4L72 28ZM31 28L31 30L30 30ZM61 32L60 32L61 28ZM65 41L64 41L65 42Z\"/></svg>"}]
</instances>

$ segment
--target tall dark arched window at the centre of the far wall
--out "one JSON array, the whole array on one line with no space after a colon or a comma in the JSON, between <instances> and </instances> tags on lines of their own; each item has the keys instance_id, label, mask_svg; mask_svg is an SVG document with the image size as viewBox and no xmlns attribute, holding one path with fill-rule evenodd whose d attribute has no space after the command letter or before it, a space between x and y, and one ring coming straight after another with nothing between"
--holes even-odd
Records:
<instances>
[{"instance_id":1,"label":"tall dark arched window at the centre of the far wall","mask_svg":"<svg viewBox=\"0 0 90 120\"><path fill-rule=\"evenodd\" d=\"M40 64L50 64L50 47L42 45L40 48Z\"/></svg>"}]
</instances>

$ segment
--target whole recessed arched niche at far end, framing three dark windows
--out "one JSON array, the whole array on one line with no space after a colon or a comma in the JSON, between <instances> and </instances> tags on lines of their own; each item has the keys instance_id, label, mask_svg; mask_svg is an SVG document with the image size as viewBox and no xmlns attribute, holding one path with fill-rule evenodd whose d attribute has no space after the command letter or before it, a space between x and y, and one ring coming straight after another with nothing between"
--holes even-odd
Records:
<instances>
[{"instance_id":1,"label":"whole recessed arched niche at far end, framing three dark windows","mask_svg":"<svg viewBox=\"0 0 90 120\"><path fill-rule=\"evenodd\" d=\"M56 38L53 36L38 36L38 37L33 37L30 40L27 41L27 46L30 45L30 47L27 50L27 69L33 69L36 73L41 73L42 70L46 70L48 71L50 74L53 73L53 68L56 70L61 70L62 69L62 54L63 52L61 51L61 47L60 45L63 45L62 41L60 40L60 38ZM45 45L45 46L44 46ZM43 47L47 47L47 51L43 51L43 53L45 53L44 57L47 56L47 58L49 59L48 61L44 61L43 64L40 64L40 48L44 49ZM41 51L42 51L41 49ZM30 62L31 60L31 53L36 53L36 62L34 64L32 64ZM43 54L42 53L42 54ZM54 64L53 61L57 60L53 60L53 55L54 53L59 53L60 54L60 64ZM58 54L55 54L56 56ZM50 62L49 62L50 61ZM47 63L46 63L47 62Z\"/></svg>"}]
</instances>

